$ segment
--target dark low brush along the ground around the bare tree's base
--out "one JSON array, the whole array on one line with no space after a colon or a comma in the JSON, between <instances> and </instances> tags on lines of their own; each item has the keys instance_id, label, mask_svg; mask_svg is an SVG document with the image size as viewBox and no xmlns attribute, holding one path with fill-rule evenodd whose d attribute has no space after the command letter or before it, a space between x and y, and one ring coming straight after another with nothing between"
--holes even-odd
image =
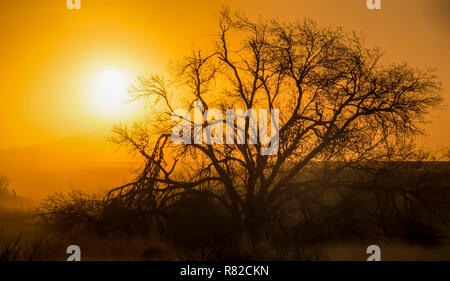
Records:
<instances>
[{"instance_id":1,"label":"dark low brush along the ground around the bare tree's base","mask_svg":"<svg viewBox=\"0 0 450 281\"><path fill-rule=\"evenodd\" d=\"M450 163L371 162L348 168L343 173L348 177L331 179L316 165L311 167L314 176L296 183L302 192L289 194L292 200L266 224L265 238L258 243L243 236L226 210L200 192L174 201L159 224L139 220L139 227L133 227L137 222L126 208L112 215L107 202L81 192L64 200L50 197L42 214L54 230L71 234L129 239L153 230L177 258L189 260L316 260L326 258L324 246L332 243L443 242L450 215ZM149 249L143 259L161 259L166 251Z\"/></svg>"}]
</instances>

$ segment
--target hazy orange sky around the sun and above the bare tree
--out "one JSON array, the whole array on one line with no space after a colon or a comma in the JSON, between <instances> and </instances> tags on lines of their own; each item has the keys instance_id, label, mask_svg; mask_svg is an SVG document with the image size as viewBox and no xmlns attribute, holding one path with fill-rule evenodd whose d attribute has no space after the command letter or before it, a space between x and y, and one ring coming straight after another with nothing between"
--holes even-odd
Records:
<instances>
[{"instance_id":1,"label":"hazy orange sky around the sun and above the bare tree","mask_svg":"<svg viewBox=\"0 0 450 281\"><path fill-rule=\"evenodd\" d=\"M79 135L125 118L96 112L91 96L99 73L163 72L170 59L212 40L224 4L250 17L309 17L363 31L389 61L436 68L448 104L450 1L381 1L375 11L366 0L81 0L81 10L68 10L66 0L2 0L0 148ZM448 110L436 112L424 141L447 145L449 122Z\"/></svg>"}]
</instances>

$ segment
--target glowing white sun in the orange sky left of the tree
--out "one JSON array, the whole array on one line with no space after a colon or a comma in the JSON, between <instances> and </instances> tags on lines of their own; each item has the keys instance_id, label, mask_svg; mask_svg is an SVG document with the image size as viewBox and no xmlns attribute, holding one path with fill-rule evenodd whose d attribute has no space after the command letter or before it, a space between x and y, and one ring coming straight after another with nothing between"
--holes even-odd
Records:
<instances>
[{"instance_id":1,"label":"glowing white sun in the orange sky left of the tree","mask_svg":"<svg viewBox=\"0 0 450 281\"><path fill-rule=\"evenodd\" d=\"M123 72L107 70L95 78L92 105L98 113L118 116L129 108L127 89L130 81Z\"/></svg>"}]
</instances>

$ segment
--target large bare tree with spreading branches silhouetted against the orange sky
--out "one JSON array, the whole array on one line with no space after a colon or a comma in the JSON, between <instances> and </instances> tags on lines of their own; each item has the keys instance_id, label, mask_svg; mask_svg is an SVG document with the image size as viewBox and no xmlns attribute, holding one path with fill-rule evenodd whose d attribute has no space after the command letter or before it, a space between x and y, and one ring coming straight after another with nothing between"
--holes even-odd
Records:
<instances>
[{"instance_id":1,"label":"large bare tree with spreading branches silhouetted against the orange sky","mask_svg":"<svg viewBox=\"0 0 450 281\"><path fill-rule=\"evenodd\" d=\"M151 114L131 128L116 127L114 140L146 164L107 202L161 218L181 196L199 193L256 237L293 192L302 192L299 179L308 182L308 166L329 165L336 174L362 161L395 159L441 101L433 71L382 64L383 52L354 33L309 20L254 22L226 9L218 23L215 49L182 59L174 79L146 75L133 86L134 98L153 103ZM217 108L223 115L279 109L279 151L260 153L265 145L250 142L249 118L245 144L173 143L171 116L177 108L192 112L194 101L203 113ZM206 128L214 121L202 122ZM191 127L194 132L194 122Z\"/></svg>"}]
</instances>

